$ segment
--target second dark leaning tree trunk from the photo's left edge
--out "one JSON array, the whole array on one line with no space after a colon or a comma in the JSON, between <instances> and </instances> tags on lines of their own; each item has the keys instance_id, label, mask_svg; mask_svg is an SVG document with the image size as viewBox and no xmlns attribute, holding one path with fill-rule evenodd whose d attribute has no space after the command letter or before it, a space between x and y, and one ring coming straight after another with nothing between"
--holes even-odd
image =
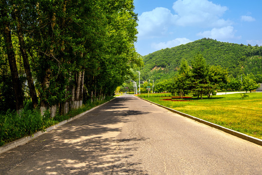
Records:
<instances>
[{"instance_id":1,"label":"second dark leaning tree trunk from the photo's left edge","mask_svg":"<svg viewBox=\"0 0 262 175\"><path fill-rule=\"evenodd\" d=\"M20 48L20 52L22 54L22 58L23 58L23 62L24 62L24 69L25 69L25 73L26 73L28 86L29 86L30 96L32 98L32 103L33 103L33 106L35 108L38 104L38 100L37 100L37 95L36 95L36 91L35 91L33 76L32 76L29 61L28 61L28 55L27 55L26 50L25 50L25 42L24 42L24 37L23 37L23 34L22 34L21 25L20 25L19 19L17 18L18 16L19 15L17 15L17 11L16 11L14 13L13 18L17 21L17 34L18 34L18 39L19 39L19 44L20 44L19 48Z\"/></svg>"}]
</instances>

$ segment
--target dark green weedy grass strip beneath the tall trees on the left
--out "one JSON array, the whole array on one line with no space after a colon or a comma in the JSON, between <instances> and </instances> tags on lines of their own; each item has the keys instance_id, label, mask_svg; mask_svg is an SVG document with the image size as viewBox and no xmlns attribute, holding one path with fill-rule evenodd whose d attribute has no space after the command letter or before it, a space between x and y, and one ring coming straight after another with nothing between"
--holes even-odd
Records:
<instances>
[{"instance_id":1,"label":"dark green weedy grass strip beneath the tall trees on the left","mask_svg":"<svg viewBox=\"0 0 262 175\"><path fill-rule=\"evenodd\" d=\"M104 104L113 97L107 97L105 100L87 103L78 109L70 110L66 115L56 115L50 118L47 112L44 116L40 115L39 110L26 109L18 115L15 111L8 111L6 114L0 114L0 146L34 134L37 131L44 130L49 126L70 119L82 112L85 112L97 105Z\"/></svg>"}]
</instances>

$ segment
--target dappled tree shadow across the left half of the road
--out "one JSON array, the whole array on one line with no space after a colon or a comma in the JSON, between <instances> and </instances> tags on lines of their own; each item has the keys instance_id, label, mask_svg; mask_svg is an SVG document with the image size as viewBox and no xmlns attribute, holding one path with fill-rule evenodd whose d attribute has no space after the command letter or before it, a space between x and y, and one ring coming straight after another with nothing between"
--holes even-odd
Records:
<instances>
[{"instance_id":1,"label":"dappled tree shadow across the left half of the road","mask_svg":"<svg viewBox=\"0 0 262 175\"><path fill-rule=\"evenodd\" d=\"M0 174L19 175L147 175L141 162L123 162L144 139L117 140L119 123L128 115L148 112L128 110L119 99L85 116L39 136L26 145L1 154ZM119 142L130 144L128 148ZM130 153L130 154L129 154Z\"/></svg>"}]
</instances>

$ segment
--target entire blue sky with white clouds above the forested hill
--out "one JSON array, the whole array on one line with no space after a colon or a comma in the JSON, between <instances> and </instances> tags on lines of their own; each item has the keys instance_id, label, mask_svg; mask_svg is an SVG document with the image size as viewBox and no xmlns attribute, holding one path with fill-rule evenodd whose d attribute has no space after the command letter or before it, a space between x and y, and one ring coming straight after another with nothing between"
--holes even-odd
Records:
<instances>
[{"instance_id":1,"label":"entire blue sky with white clouds above the forested hill","mask_svg":"<svg viewBox=\"0 0 262 175\"><path fill-rule=\"evenodd\" d=\"M203 37L262 45L262 0L134 0L141 55Z\"/></svg>"}]
</instances>

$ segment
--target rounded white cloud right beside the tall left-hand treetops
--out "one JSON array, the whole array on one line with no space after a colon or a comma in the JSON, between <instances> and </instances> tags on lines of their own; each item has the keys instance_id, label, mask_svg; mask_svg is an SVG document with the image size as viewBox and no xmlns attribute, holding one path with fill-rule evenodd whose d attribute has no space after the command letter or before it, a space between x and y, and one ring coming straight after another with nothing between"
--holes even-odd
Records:
<instances>
[{"instance_id":1,"label":"rounded white cloud right beside the tall left-hand treetops","mask_svg":"<svg viewBox=\"0 0 262 175\"><path fill-rule=\"evenodd\" d=\"M168 31L176 17L169 9L163 7L157 7L150 12L143 12L138 21L139 35L151 35L152 37L163 35Z\"/></svg>"}]
</instances>

